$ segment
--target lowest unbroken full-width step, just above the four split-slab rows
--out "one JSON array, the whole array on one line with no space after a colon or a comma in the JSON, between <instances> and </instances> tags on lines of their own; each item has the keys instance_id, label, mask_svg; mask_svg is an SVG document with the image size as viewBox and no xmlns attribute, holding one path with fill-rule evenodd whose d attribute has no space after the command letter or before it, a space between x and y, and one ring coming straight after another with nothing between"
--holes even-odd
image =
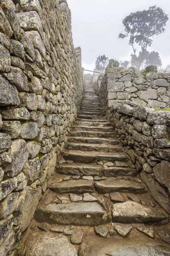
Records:
<instances>
[{"instance_id":1,"label":"lowest unbroken full-width step, just above the four split-slab rows","mask_svg":"<svg viewBox=\"0 0 170 256\"><path fill-rule=\"evenodd\" d=\"M101 144L89 144L89 143L66 143L66 149L75 149L75 150L96 150L102 152L123 152L123 148L115 145L101 145Z\"/></svg>"}]
</instances>

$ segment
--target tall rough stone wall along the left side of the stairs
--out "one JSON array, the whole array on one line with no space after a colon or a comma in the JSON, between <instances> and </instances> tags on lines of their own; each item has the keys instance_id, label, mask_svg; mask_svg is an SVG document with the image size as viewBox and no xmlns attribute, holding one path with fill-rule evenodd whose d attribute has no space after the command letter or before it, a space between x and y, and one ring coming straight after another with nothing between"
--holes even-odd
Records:
<instances>
[{"instance_id":1,"label":"tall rough stone wall along the left side of the stairs","mask_svg":"<svg viewBox=\"0 0 170 256\"><path fill-rule=\"evenodd\" d=\"M66 0L0 0L1 256L34 215L82 92Z\"/></svg>"}]
</instances>

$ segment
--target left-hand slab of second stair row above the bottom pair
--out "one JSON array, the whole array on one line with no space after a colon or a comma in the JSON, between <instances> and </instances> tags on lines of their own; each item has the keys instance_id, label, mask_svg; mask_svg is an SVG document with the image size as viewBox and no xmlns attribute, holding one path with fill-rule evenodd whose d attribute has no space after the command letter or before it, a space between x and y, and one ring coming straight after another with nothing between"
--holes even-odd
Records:
<instances>
[{"instance_id":1,"label":"left-hand slab of second stair row above the bottom pair","mask_svg":"<svg viewBox=\"0 0 170 256\"><path fill-rule=\"evenodd\" d=\"M82 194L87 192L94 192L94 183L93 180L66 180L55 183L54 178L54 183L51 184L50 189L59 194Z\"/></svg>"}]
</instances>

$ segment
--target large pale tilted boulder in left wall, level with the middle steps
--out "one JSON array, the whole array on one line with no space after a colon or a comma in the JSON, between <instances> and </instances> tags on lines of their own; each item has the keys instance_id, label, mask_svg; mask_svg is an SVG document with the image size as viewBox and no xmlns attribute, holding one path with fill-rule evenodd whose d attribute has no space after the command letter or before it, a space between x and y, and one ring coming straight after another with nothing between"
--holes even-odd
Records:
<instances>
[{"instance_id":1,"label":"large pale tilted boulder in left wall, level with the middle steps","mask_svg":"<svg viewBox=\"0 0 170 256\"><path fill-rule=\"evenodd\" d=\"M8 150L8 155L11 157L12 162L6 164L3 170L9 177L16 176L28 160L28 149L25 140L14 140Z\"/></svg>"}]
</instances>

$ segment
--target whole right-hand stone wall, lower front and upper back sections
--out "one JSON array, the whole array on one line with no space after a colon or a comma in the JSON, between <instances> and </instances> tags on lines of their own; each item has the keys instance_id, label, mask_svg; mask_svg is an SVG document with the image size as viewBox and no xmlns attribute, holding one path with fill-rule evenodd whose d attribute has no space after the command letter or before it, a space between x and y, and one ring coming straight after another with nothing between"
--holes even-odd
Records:
<instances>
[{"instance_id":1,"label":"whole right-hand stone wall, lower front and upper back sections","mask_svg":"<svg viewBox=\"0 0 170 256\"><path fill-rule=\"evenodd\" d=\"M94 88L116 137L151 195L170 214L170 74L135 74L110 61ZM153 67L150 67L153 68ZM149 69L149 68L148 68Z\"/></svg>"}]
</instances>

